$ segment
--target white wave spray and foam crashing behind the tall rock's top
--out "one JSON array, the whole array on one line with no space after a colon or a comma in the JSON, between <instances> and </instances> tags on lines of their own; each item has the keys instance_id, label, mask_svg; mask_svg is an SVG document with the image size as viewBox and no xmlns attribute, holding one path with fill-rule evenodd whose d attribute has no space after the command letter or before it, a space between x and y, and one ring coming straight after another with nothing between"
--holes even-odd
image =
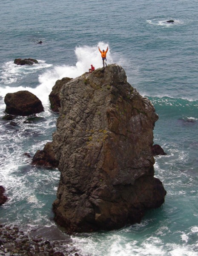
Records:
<instances>
[{"instance_id":1,"label":"white wave spray and foam crashing behind the tall rock's top","mask_svg":"<svg viewBox=\"0 0 198 256\"><path fill-rule=\"evenodd\" d=\"M81 76L83 73L89 71L91 64L95 67L95 69L103 67L98 46L100 49L106 49L106 47L109 45L104 42L99 42L98 45L93 47L76 47L75 55L77 57L77 63L74 66L68 66L66 64L52 66L52 64L46 64L45 61L39 61L40 65L35 64L33 66L17 66L11 61L7 62L3 67L1 79L4 84L9 84L9 86L0 88L0 96L4 97L6 93L17 92L18 90L29 90L41 100L44 106L48 106L49 94L58 79L62 79L63 77L76 78L77 76ZM115 57L117 58L118 56L115 55ZM122 56L116 59L116 63L123 61L124 59ZM109 47L107 53L107 64L112 63L113 58L111 49ZM17 80L23 79L24 76L27 76L29 73L36 72L40 68L47 68L47 70L43 74L39 75L38 86L36 88L23 86L11 87L11 85Z\"/></svg>"}]
</instances>

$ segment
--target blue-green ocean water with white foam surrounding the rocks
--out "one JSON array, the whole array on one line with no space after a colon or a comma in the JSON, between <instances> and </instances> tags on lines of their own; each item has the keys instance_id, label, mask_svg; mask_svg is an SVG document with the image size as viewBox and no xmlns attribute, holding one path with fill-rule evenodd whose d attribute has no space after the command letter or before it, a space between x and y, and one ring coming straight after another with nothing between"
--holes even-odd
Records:
<instances>
[{"instance_id":1,"label":"blue-green ocean water with white foam surrounding the rocks","mask_svg":"<svg viewBox=\"0 0 198 256\"><path fill-rule=\"evenodd\" d=\"M155 157L155 177L167 195L141 224L75 234L72 243L92 256L198 255L197 10L197 0L1 0L0 185L9 197L0 207L1 223L55 226L60 173L31 166L24 153L32 157L52 140L57 113L48 96L55 81L80 76L91 64L102 67L98 46L109 46L107 64L121 65L158 113L154 143L167 155ZM15 58L39 64L17 66ZM18 90L42 101L45 111L36 121L2 119L6 93Z\"/></svg>"}]
</instances>

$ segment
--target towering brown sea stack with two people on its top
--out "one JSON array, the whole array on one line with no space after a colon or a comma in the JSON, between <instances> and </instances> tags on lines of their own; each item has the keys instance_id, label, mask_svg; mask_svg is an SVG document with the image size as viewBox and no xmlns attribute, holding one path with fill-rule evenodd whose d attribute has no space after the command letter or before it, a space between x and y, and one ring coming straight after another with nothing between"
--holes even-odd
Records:
<instances>
[{"instance_id":1,"label":"towering brown sea stack with two people on its top","mask_svg":"<svg viewBox=\"0 0 198 256\"><path fill-rule=\"evenodd\" d=\"M68 232L121 228L160 207L166 191L154 177L158 115L111 64L72 79L60 93L53 145L60 183L55 221Z\"/></svg>"}]
</instances>

